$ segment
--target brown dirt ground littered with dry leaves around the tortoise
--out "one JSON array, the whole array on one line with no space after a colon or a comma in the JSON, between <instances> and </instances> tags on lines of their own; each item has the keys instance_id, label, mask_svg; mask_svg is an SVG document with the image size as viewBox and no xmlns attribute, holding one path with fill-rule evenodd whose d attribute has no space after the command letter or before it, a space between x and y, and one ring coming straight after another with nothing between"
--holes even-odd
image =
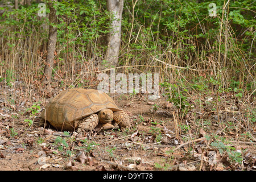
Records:
<instances>
[{"instance_id":1,"label":"brown dirt ground littered with dry leaves around the tortoise","mask_svg":"<svg viewBox=\"0 0 256 182\"><path fill-rule=\"evenodd\" d=\"M130 129L80 135L40 126L40 113L57 88L47 98L22 84L1 82L1 90L0 170L256 170L255 126L246 126L248 118L224 101L219 124L216 111L203 110L196 98L189 98L193 107L180 119L164 97L148 101L146 95L122 94L113 99L130 115ZM30 117L27 108L39 101L39 112Z\"/></svg>"}]
</instances>

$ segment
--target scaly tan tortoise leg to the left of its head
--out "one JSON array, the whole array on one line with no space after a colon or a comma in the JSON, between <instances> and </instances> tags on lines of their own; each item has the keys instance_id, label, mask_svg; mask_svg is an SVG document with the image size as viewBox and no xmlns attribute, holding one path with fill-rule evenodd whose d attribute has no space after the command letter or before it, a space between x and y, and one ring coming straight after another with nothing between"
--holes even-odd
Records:
<instances>
[{"instance_id":1,"label":"scaly tan tortoise leg to the left of its head","mask_svg":"<svg viewBox=\"0 0 256 182\"><path fill-rule=\"evenodd\" d=\"M77 133L92 131L98 125L98 115L92 114L87 118L81 119L77 128Z\"/></svg>"}]
</instances>

